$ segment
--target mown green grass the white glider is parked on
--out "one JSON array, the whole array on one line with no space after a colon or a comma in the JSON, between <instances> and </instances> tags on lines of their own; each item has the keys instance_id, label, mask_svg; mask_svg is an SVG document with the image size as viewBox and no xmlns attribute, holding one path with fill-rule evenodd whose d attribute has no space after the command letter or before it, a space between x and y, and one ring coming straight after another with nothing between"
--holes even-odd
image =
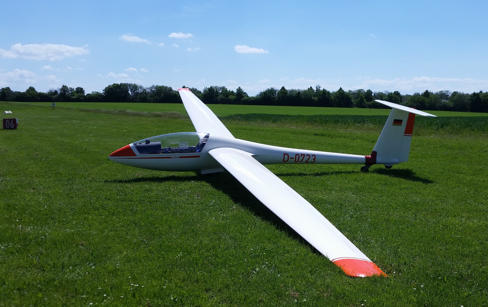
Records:
<instances>
[{"instance_id":1,"label":"mown green grass the white glider is parked on","mask_svg":"<svg viewBox=\"0 0 488 307\"><path fill-rule=\"evenodd\" d=\"M488 304L481 117L463 129L459 117L442 129L418 117L410 161L390 170L268 166L389 276L359 279L228 173L157 172L108 160L135 140L194 131L185 117L144 113L178 110L53 111L3 102L0 109L19 119L19 129L0 131L2 307ZM231 114L221 115L237 138L351 154L370 153L386 119L343 116L328 124Z\"/></svg>"}]
</instances>

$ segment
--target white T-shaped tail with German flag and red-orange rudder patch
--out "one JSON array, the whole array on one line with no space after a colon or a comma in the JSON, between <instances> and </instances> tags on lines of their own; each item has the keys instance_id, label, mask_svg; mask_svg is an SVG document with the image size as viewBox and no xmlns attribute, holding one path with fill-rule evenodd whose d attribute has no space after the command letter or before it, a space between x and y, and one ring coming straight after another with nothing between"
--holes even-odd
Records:
<instances>
[{"instance_id":1,"label":"white T-shaped tail with German flag and red-orange rudder patch","mask_svg":"<svg viewBox=\"0 0 488 307\"><path fill-rule=\"evenodd\" d=\"M376 100L376 102L385 104L393 109L386 120L371 156L368 156L371 157L369 160L376 156L376 164L392 165L407 162L415 114L432 117L435 117L435 115L392 102L382 100ZM372 161L368 163L367 160L366 165L374 164L371 163Z\"/></svg>"}]
</instances>

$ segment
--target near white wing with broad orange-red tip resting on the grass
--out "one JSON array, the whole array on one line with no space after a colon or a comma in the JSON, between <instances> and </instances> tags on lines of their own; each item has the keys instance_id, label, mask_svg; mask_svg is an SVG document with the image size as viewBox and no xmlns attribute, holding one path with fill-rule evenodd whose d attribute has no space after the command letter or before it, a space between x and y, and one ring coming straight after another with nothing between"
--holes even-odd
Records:
<instances>
[{"instance_id":1,"label":"near white wing with broad orange-red tip resting on the grass","mask_svg":"<svg viewBox=\"0 0 488 307\"><path fill-rule=\"evenodd\" d=\"M209 151L226 170L308 243L349 276L386 276L334 225L252 154L235 148Z\"/></svg>"}]
</instances>

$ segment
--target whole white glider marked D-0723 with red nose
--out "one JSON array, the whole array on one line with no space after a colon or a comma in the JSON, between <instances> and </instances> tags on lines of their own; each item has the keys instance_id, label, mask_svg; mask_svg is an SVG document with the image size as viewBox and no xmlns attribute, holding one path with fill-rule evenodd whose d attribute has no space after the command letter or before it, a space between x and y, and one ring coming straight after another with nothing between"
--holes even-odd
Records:
<instances>
[{"instance_id":1,"label":"whole white glider marked D-0723 with red nose","mask_svg":"<svg viewBox=\"0 0 488 307\"><path fill-rule=\"evenodd\" d=\"M179 89L197 132L170 133L130 143L110 160L147 169L227 170L256 198L349 276L386 276L315 207L263 164L373 164L390 168L408 160L415 114L434 116L403 105L377 100L391 108L378 142L368 156L285 148L234 138L215 114L187 88Z\"/></svg>"}]
</instances>

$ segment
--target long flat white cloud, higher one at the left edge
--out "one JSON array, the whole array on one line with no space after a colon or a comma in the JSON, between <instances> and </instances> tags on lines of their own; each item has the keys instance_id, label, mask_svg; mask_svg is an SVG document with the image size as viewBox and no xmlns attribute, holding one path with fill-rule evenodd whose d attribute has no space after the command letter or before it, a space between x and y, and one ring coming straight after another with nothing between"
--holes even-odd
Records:
<instances>
[{"instance_id":1,"label":"long flat white cloud, higher one at the left edge","mask_svg":"<svg viewBox=\"0 0 488 307\"><path fill-rule=\"evenodd\" d=\"M35 61L60 61L82 54L88 54L88 45L83 47L71 47L62 44L15 44L10 50L0 49L0 56L7 59L26 59Z\"/></svg>"}]
</instances>

